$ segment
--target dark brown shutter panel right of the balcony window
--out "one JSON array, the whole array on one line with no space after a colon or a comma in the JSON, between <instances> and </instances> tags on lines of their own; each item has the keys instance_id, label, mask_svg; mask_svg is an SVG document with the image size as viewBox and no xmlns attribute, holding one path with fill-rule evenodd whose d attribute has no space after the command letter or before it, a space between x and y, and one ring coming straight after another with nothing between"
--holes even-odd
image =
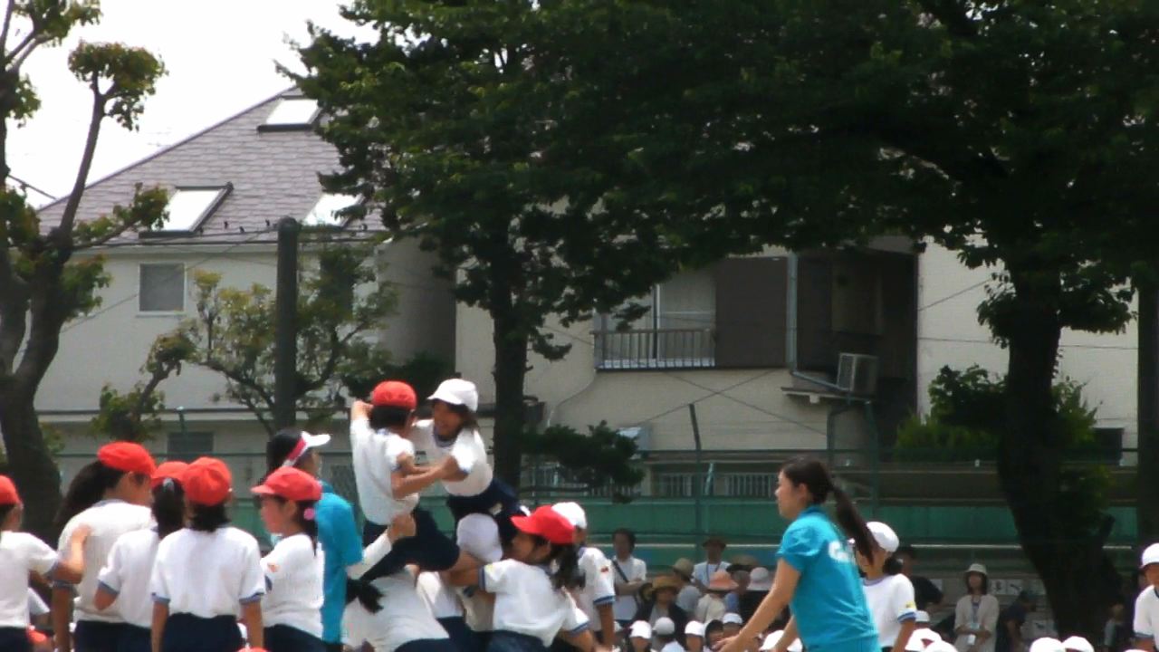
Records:
<instances>
[{"instance_id":1,"label":"dark brown shutter panel right of the balcony window","mask_svg":"<svg viewBox=\"0 0 1159 652\"><path fill-rule=\"evenodd\" d=\"M716 266L716 367L785 367L787 276L785 258Z\"/></svg>"}]
</instances>

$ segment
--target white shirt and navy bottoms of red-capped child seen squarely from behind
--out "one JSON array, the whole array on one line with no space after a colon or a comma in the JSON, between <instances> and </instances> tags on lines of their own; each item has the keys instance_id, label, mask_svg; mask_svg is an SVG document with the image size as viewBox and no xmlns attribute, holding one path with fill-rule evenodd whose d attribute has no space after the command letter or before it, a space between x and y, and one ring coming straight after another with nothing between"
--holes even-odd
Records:
<instances>
[{"instance_id":1,"label":"white shirt and navy bottoms of red-capped child seen squarely from behind","mask_svg":"<svg viewBox=\"0 0 1159 652\"><path fill-rule=\"evenodd\" d=\"M236 652L239 606L265 593L257 541L233 527L173 533L158 545L150 587L169 607L163 652Z\"/></svg>"}]
</instances>

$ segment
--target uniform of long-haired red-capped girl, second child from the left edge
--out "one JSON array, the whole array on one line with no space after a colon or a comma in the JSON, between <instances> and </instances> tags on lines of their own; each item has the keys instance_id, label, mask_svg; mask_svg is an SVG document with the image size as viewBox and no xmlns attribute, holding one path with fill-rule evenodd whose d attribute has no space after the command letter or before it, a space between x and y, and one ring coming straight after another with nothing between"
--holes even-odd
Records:
<instances>
[{"instance_id":1,"label":"uniform of long-haired red-capped girl, second child from the left edge","mask_svg":"<svg viewBox=\"0 0 1159 652\"><path fill-rule=\"evenodd\" d=\"M82 524L92 528L92 534L85 542L85 574L80 584L73 586L61 581L53 582L53 587L71 589L76 595L73 600L73 620L76 622L73 647L78 652L114 652L119 645L125 631L121 606L114 603L102 611L93 602L99 575L109 558L109 551L122 535L147 529L152 523L153 513L148 507L123 500L102 500L65 524L57 548L60 555L68 553L68 544L76 528Z\"/></svg>"}]
</instances>

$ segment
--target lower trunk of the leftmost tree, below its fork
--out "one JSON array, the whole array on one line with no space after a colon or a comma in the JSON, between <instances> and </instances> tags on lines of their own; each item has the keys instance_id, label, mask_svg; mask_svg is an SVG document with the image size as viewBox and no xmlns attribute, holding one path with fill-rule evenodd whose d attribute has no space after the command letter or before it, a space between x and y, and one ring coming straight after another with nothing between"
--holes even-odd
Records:
<instances>
[{"instance_id":1,"label":"lower trunk of the leftmost tree, below its fork","mask_svg":"<svg viewBox=\"0 0 1159 652\"><path fill-rule=\"evenodd\" d=\"M8 474L24 501L25 531L56 544L53 521L60 507L60 471L41 433L30 392L0 393L0 430L8 456Z\"/></svg>"}]
</instances>

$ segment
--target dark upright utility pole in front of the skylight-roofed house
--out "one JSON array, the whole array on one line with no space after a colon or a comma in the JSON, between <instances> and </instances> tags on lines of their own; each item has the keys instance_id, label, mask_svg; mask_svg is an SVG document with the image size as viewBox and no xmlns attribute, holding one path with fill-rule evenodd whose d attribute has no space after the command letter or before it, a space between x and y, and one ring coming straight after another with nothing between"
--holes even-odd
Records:
<instances>
[{"instance_id":1,"label":"dark upright utility pole in front of the skylight-roofed house","mask_svg":"<svg viewBox=\"0 0 1159 652\"><path fill-rule=\"evenodd\" d=\"M274 323L274 426L287 428L298 418L298 222L278 223L278 280Z\"/></svg>"}]
</instances>

